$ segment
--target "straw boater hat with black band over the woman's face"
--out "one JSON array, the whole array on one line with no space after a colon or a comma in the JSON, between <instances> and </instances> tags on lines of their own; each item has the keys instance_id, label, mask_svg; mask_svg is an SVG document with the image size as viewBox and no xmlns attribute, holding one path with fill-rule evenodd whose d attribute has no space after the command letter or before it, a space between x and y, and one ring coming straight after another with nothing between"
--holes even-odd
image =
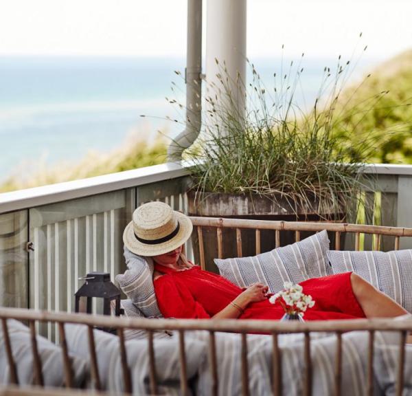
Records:
<instances>
[{"instance_id":1,"label":"straw boater hat with black band over the woman's face","mask_svg":"<svg viewBox=\"0 0 412 396\"><path fill-rule=\"evenodd\" d=\"M183 245L192 234L192 221L163 202L145 203L126 225L126 248L140 256L157 256Z\"/></svg>"}]
</instances>

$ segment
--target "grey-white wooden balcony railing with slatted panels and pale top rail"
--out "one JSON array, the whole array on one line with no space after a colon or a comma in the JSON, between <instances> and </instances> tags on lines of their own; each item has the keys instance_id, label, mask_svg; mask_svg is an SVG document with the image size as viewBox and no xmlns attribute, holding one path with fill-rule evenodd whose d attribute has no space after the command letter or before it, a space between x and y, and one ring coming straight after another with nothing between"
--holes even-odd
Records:
<instances>
[{"instance_id":1,"label":"grey-white wooden balcony railing with slatted panels and pale top rail","mask_svg":"<svg viewBox=\"0 0 412 396\"><path fill-rule=\"evenodd\" d=\"M80 276L124 270L122 233L138 205L162 200L186 210L189 173L163 164L1 194L0 305L73 311ZM365 221L380 203L381 225L412 227L412 166L368 166L365 177Z\"/></svg>"}]
</instances>

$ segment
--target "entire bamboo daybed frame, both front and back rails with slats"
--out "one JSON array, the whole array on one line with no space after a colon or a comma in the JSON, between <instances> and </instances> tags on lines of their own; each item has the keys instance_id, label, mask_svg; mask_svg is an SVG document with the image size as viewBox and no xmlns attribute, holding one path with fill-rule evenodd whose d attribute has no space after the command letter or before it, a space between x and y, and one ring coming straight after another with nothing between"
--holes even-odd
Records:
<instances>
[{"instance_id":1,"label":"entire bamboo daybed frame, both front and back rails with slats","mask_svg":"<svg viewBox=\"0 0 412 396\"><path fill-rule=\"evenodd\" d=\"M200 265L205 267L205 246L203 244L203 228L215 228L218 242L218 257L222 258L223 247L223 228L236 229L236 246L238 256L242 256L242 229L255 230L255 250L260 253L260 234L262 230L275 230L275 245L280 244L280 235L284 231L295 232L295 240L299 241L301 232L317 232L328 230L335 234L335 250L341 249L341 236L343 234L354 234L354 250L359 250L361 234L374 235L373 249L379 250L384 237L392 237L393 247L387 250L398 250L400 248L400 238L411 237L412 228L383 227L375 225L354 225L347 223L306 223L306 222L287 222L287 221L261 221L261 220L242 220L242 219L218 219L205 217L192 217L195 232L198 236L198 251L200 253ZM385 239L386 241L386 239ZM226 242L227 243L227 242ZM365 384L365 395L373 394L374 379L374 332L375 331L398 331L400 333L400 353L398 359L398 375L396 381L396 394L402 395L404 388L404 360L405 360L405 342L407 332L412 331L412 320L385 320L385 319L358 319L358 320L330 320L330 321L313 321L313 322L276 322L268 320L170 320L170 319L131 319L131 318L113 318L108 316L91 316L87 314L67 314L62 312L34 311L31 309L14 309L0 308L0 320L3 327L5 349L10 366L10 383L14 388L9 390L0 389L0 395L37 395L38 390L30 391L16 389L19 386L19 380L16 375L16 366L12 353L10 338L8 336L7 319L14 318L29 323L32 343L32 353L34 361L34 379L37 386L43 386L43 376L41 359L38 355L36 344L36 322L53 322L58 325L60 334L60 347L62 351L62 362L65 368L65 385L67 388L72 386L72 373L69 360L69 353L65 338L65 324L76 323L84 324L89 327L89 357L91 363L91 376L96 391L100 391L101 381L98 371L98 360L96 358L95 340L93 336L93 327L112 327L117 329L119 336L119 353L121 356L122 371L124 375L124 390L126 393L132 391L130 371L127 365L127 351L124 341L124 329L144 329L148 331L148 353L150 369L150 393L157 393L157 375L155 350L153 344L153 331L169 329L179 333L179 360L180 360L180 382L181 393L187 395L187 371L185 356L185 332L194 330L205 330L209 332L209 357L211 362L211 393L218 394L218 377L216 362L216 331L235 331L241 333L242 353L241 353L241 370L242 370L242 395L249 395L248 362L247 362L247 333L260 331L271 333L273 338L273 395L282 394L282 365L280 362L278 335L279 333L304 333L304 395L312 394L312 375L310 368L310 333L311 332L332 332L337 336L336 342L336 362L334 366L334 395L341 395L341 378L342 378L342 333L346 331L363 330L369 332L369 353L367 358L367 384ZM14 393L15 392L15 393ZM32 393L31 393L32 392ZM87 391L83 391L84 394ZM56 393L58 394L58 393ZM62 395L80 395L81 391L62 392Z\"/></svg>"}]
</instances>

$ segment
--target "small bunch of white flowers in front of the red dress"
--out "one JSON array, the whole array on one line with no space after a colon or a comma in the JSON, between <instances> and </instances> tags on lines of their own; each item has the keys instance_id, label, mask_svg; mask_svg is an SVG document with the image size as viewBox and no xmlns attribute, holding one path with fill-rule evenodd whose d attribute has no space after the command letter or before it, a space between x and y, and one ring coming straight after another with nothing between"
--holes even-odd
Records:
<instances>
[{"instance_id":1,"label":"small bunch of white flowers in front of the red dress","mask_svg":"<svg viewBox=\"0 0 412 396\"><path fill-rule=\"evenodd\" d=\"M285 311L281 320L300 320L303 322L304 312L306 309L314 306L312 296L302 293L301 285L293 285L291 282L284 283L284 289L281 292L273 294L269 301L272 304L279 302Z\"/></svg>"}]
</instances>

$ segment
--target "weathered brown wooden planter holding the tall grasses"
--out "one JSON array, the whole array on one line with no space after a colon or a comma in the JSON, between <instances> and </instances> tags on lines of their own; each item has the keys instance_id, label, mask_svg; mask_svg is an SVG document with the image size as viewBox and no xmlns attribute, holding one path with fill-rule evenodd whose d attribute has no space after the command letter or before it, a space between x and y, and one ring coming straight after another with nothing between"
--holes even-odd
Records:
<instances>
[{"instance_id":1,"label":"weathered brown wooden planter holding the tall grasses","mask_svg":"<svg viewBox=\"0 0 412 396\"><path fill-rule=\"evenodd\" d=\"M225 194L216 192L195 192L189 191L188 197L188 214L199 217L225 217L236 219L253 219L253 220L277 220L277 221L339 221L344 218L343 213L335 214L330 212L322 213L322 216L314 213L308 206L297 206L291 208L286 199L270 199L260 195L240 195ZM315 205L313 207L316 207ZM254 256L256 254L255 237L253 230L241 230L242 238L242 255ZM236 230L225 228L222 230L224 240L236 240ZM301 237L306 238L313 232L303 232ZM334 236L330 236L332 243ZM293 232L282 233L282 245L288 245L295 241ZM198 263L198 234L193 234L194 259ZM203 242L205 244L205 266L212 272L217 272L213 259L218 257L218 246L216 242L216 230L212 228L203 228ZM273 230L263 230L261 234L261 252L268 252L275 248L275 232ZM222 256L236 257L236 244L223 245Z\"/></svg>"}]
</instances>

